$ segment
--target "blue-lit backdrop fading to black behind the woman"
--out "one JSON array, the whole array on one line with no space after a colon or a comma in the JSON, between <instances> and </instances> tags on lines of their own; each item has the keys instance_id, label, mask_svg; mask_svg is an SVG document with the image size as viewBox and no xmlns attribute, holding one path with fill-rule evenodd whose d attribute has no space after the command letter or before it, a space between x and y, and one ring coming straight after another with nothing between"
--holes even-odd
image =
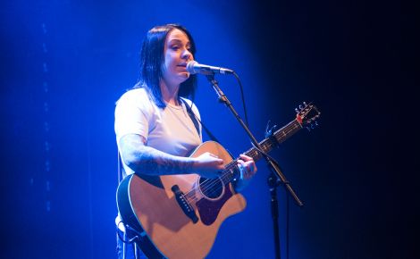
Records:
<instances>
[{"instance_id":1,"label":"blue-lit backdrop fading to black behind the woman","mask_svg":"<svg viewBox=\"0 0 420 259\"><path fill-rule=\"evenodd\" d=\"M383 1L3 1L2 258L115 258L114 103L138 79L147 29L180 22L196 59L238 72L264 138L313 101L319 127L272 155L290 201L290 258L416 258L419 87L414 4ZM239 87L218 76L243 116ZM249 141L200 77L195 102L223 146ZM245 212L208 258L273 258L260 162ZM286 258L286 196L279 188ZM187 258L187 257L186 257Z\"/></svg>"}]
</instances>

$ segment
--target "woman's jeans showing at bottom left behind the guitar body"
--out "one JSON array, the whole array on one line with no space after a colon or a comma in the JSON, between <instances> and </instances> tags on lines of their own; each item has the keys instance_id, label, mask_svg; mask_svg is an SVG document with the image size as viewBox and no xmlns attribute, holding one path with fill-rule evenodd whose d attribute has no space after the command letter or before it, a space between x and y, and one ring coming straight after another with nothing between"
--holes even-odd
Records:
<instances>
[{"instance_id":1,"label":"woman's jeans showing at bottom left behind the guitar body","mask_svg":"<svg viewBox=\"0 0 420 259\"><path fill-rule=\"evenodd\" d=\"M130 238L134 237L134 235L130 234L130 230L125 233L117 228L118 259L147 259L146 255L141 252L139 245L135 241L129 243Z\"/></svg>"}]
</instances>

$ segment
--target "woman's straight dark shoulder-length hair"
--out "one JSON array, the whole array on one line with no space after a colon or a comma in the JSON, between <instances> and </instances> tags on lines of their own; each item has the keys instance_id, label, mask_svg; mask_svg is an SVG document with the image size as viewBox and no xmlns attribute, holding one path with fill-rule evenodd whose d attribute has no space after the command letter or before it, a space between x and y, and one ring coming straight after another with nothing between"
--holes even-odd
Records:
<instances>
[{"instance_id":1,"label":"woman's straight dark shoulder-length hair","mask_svg":"<svg viewBox=\"0 0 420 259\"><path fill-rule=\"evenodd\" d=\"M183 31L190 42L190 53L196 54L196 45L189 31L179 24L166 24L155 26L147 32L143 40L140 52L140 77L139 82L134 88L145 88L148 96L160 108L165 108L166 104L162 97L160 79L163 77L164 63L164 42L172 29ZM194 96L197 87L197 75L189 75L189 79L181 83L178 96Z\"/></svg>"}]
</instances>

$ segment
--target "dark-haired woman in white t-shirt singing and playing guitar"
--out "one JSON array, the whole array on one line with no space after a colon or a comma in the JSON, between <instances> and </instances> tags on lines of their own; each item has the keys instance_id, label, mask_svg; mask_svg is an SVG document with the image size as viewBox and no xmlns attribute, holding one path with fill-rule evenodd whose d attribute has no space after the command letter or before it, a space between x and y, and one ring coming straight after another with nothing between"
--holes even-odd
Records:
<instances>
[{"instance_id":1,"label":"dark-haired woman in white t-shirt singing and playing guitar","mask_svg":"<svg viewBox=\"0 0 420 259\"><path fill-rule=\"evenodd\" d=\"M126 175L197 173L214 179L223 170L223 160L208 152L187 157L202 143L201 127L189 116L187 105L199 119L197 107L186 98L196 87L196 75L186 70L195 52L193 38L180 25L156 26L147 32L139 83L122 95L115 109L115 134ZM237 190L256 173L252 158L240 158ZM120 239L120 258L135 258L132 246L124 248ZM125 257L122 250L127 251Z\"/></svg>"}]
</instances>

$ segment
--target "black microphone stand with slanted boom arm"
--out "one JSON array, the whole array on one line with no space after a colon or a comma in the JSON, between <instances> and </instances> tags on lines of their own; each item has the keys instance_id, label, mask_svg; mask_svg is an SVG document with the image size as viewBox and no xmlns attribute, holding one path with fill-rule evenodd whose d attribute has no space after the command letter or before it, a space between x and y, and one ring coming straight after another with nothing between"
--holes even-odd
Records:
<instances>
[{"instance_id":1,"label":"black microphone stand with slanted boom arm","mask_svg":"<svg viewBox=\"0 0 420 259\"><path fill-rule=\"evenodd\" d=\"M231 110L231 113L233 113L235 118L239 121L240 126L242 126L242 128L245 129L245 131L247 132L249 138L251 139L252 144L264 156L265 161L267 162L267 165L271 171L271 174L268 178L268 186L270 188L270 194L271 194L273 231L274 231L273 232L274 249L275 249L275 258L280 259L281 253L280 253L280 234L279 234L279 222L278 222L279 213L278 213L278 202L277 202L277 191L276 191L277 187L280 184L282 184L282 186L286 188L287 192L294 198L298 206L303 206L303 204L298 198L298 196L295 194L294 190L290 187L290 183L288 180L286 180L286 177L281 172L281 169L280 169L280 166L278 166L278 163L273 163L272 159L268 155L266 155L264 152L261 152L261 146L259 146L258 141L256 141L256 138L248 129L247 125L239 117L239 114L233 108L231 101L229 101L228 97L223 93L222 89L219 88L219 84L217 80L214 79L214 72L209 72L208 74L206 74L206 78L208 79L212 87L214 88L214 91L216 92L218 96L219 102L225 104ZM289 205L288 205L287 213L289 213ZM288 221L289 221L289 215L288 215ZM289 254L289 251L287 254Z\"/></svg>"}]
</instances>

